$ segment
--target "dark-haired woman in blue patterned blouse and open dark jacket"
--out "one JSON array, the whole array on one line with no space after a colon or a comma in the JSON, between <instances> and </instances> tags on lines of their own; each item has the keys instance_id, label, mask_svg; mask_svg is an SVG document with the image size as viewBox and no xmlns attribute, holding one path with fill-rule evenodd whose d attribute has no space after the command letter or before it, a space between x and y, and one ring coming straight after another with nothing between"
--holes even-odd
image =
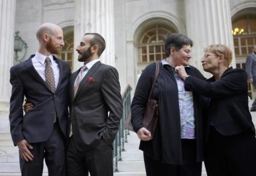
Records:
<instances>
[{"instance_id":1,"label":"dark-haired woman in blue patterned blouse and open dark jacket","mask_svg":"<svg viewBox=\"0 0 256 176\"><path fill-rule=\"evenodd\" d=\"M151 90L156 64L148 65L138 80L131 103L131 121L143 151L147 176L200 176L204 145L205 98L185 91L184 81L175 73L183 65L189 74L204 79L199 70L189 66L193 42L173 33L164 44L166 59L160 62L152 99L158 101L159 120L155 135L142 125L143 112Z\"/></svg>"}]
</instances>

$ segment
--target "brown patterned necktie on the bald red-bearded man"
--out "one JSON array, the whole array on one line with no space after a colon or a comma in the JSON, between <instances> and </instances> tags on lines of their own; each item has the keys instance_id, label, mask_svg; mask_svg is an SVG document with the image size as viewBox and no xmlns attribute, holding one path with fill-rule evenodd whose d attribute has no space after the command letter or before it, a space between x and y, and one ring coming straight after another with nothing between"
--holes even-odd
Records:
<instances>
[{"instance_id":1,"label":"brown patterned necktie on the bald red-bearded man","mask_svg":"<svg viewBox=\"0 0 256 176\"><path fill-rule=\"evenodd\" d=\"M46 85L49 86L52 93L55 93L55 78L54 78L54 72L51 67L51 59L49 57L46 58Z\"/></svg>"}]
</instances>

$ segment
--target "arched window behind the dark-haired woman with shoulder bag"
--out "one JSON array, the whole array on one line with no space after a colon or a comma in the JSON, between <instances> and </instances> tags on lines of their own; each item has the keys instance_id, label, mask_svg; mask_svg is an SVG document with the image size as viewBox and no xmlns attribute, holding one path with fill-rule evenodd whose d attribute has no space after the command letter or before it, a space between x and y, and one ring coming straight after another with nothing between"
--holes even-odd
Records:
<instances>
[{"instance_id":1,"label":"arched window behind the dark-haired woman with shoulder bag","mask_svg":"<svg viewBox=\"0 0 256 176\"><path fill-rule=\"evenodd\" d=\"M165 19L149 19L140 25L134 40L138 77L148 64L165 58L164 42L167 36L175 32L177 29L174 24Z\"/></svg>"}]
</instances>

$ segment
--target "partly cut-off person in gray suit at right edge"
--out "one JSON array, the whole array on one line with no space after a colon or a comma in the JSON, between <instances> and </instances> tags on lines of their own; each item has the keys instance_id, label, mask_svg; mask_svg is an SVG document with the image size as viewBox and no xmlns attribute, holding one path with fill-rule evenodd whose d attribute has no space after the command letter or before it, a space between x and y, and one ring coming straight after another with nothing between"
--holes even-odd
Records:
<instances>
[{"instance_id":1,"label":"partly cut-off person in gray suit at right edge","mask_svg":"<svg viewBox=\"0 0 256 176\"><path fill-rule=\"evenodd\" d=\"M246 58L246 73L249 83L253 84L256 88L256 45L253 46L253 53L249 54ZM250 111L256 111L256 98L251 105Z\"/></svg>"}]
</instances>

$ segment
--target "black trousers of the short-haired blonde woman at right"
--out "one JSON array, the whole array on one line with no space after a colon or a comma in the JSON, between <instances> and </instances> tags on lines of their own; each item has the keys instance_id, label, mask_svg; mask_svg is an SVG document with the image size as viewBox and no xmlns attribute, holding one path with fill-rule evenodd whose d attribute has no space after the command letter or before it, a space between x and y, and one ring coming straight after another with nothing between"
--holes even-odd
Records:
<instances>
[{"instance_id":1,"label":"black trousers of the short-haired blonde woman at right","mask_svg":"<svg viewBox=\"0 0 256 176\"><path fill-rule=\"evenodd\" d=\"M223 136L211 126L205 155L208 176L255 176L256 139L252 132Z\"/></svg>"}]
</instances>

